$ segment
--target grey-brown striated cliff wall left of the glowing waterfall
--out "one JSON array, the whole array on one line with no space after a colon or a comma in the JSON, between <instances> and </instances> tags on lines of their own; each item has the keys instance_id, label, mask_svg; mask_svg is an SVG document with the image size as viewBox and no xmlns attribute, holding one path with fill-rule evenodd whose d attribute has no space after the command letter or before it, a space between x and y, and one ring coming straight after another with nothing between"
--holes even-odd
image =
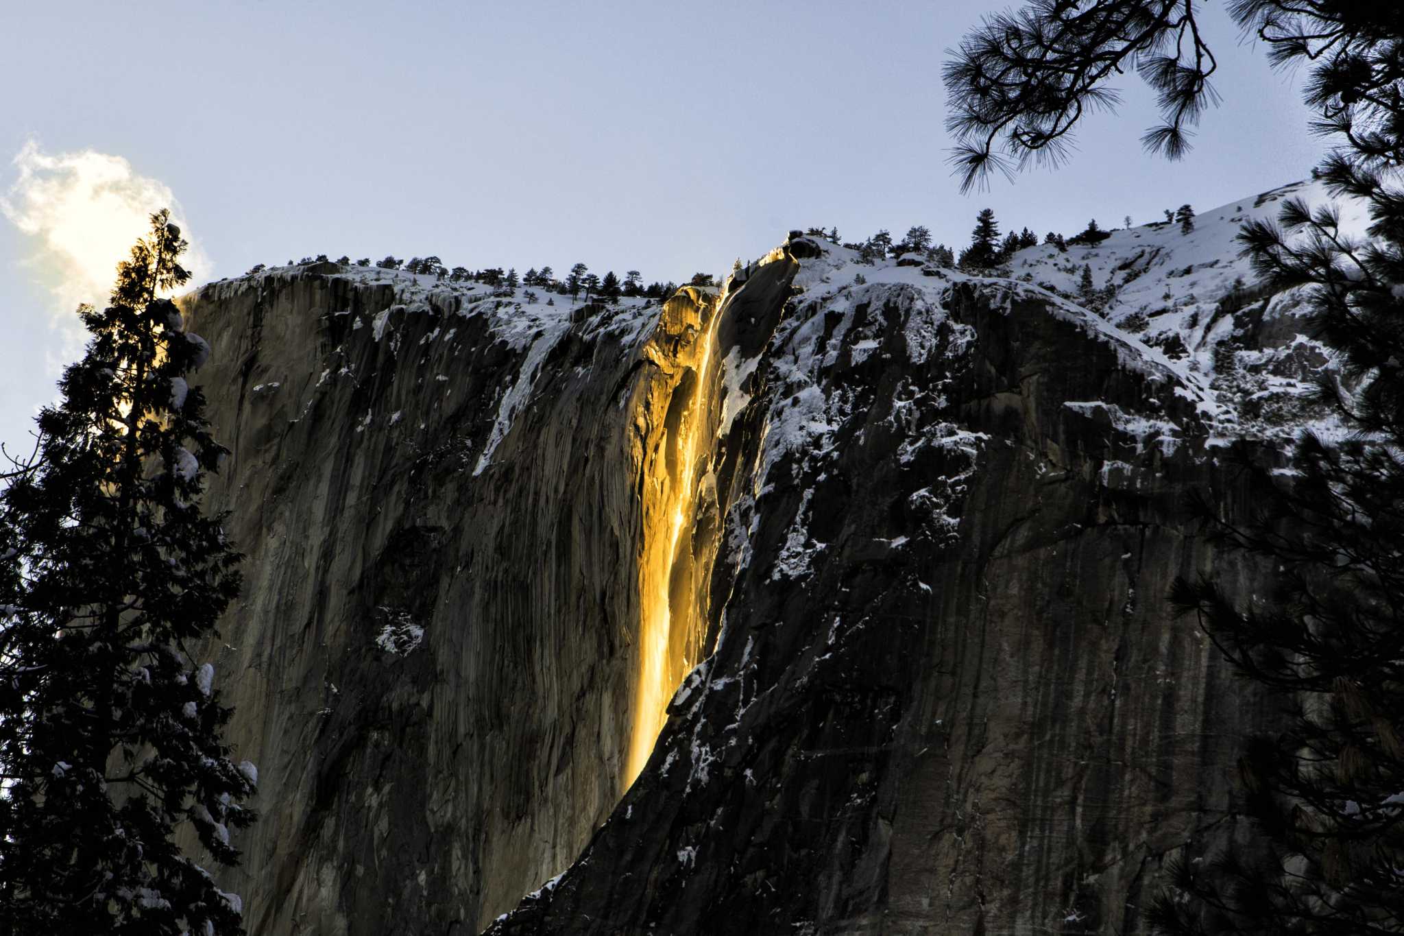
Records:
<instances>
[{"instance_id":1,"label":"grey-brown striated cliff wall left of the glowing waterfall","mask_svg":"<svg viewBox=\"0 0 1404 936\"><path fill-rule=\"evenodd\" d=\"M677 449L713 306L542 309L334 267L185 300L234 452L209 501L247 554L209 655L261 769L251 932L477 932L614 807L646 469Z\"/></svg>"}]
</instances>

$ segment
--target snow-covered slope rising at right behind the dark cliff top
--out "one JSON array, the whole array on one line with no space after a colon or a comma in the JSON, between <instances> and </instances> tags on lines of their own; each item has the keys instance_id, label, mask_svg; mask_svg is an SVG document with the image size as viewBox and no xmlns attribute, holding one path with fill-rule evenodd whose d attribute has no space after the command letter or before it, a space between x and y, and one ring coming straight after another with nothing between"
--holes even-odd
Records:
<instances>
[{"instance_id":1,"label":"snow-covered slope rising at right behind the dark cliff top","mask_svg":"<svg viewBox=\"0 0 1404 936\"><path fill-rule=\"evenodd\" d=\"M1309 206L1334 202L1342 233L1365 237L1365 203L1334 199L1324 184L1303 181L1203 210L1188 233L1175 222L1153 222L1066 251L1040 244L987 275L913 264L915 254L900 265L865 262L858 251L807 239L821 255L803 261L795 283L824 303L900 286L941 307L952 285L972 281L1005 290L995 303L1005 310L1038 297L1050 314L1115 348L1122 366L1174 386L1220 439L1289 439L1303 425L1334 436L1339 427L1330 413L1302 399L1317 373L1334 368L1330 351L1307 334L1303 296L1265 293L1238 255L1241 225L1275 222L1289 198ZM1084 268L1091 292L1082 289ZM875 347L869 337L852 338L854 355Z\"/></svg>"}]
</instances>

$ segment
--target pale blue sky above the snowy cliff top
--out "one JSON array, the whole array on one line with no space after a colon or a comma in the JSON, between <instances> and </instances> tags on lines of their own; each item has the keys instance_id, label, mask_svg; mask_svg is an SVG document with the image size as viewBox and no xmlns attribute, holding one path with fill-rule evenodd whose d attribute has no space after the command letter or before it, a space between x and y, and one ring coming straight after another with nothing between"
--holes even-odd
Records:
<instances>
[{"instance_id":1,"label":"pale blue sky above the snowy cliff top","mask_svg":"<svg viewBox=\"0 0 1404 936\"><path fill-rule=\"evenodd\" d=\"M309 254L468 267L583 260L646 279L722 271L792 226L910 225L966 241L1210 208L1320 153L1290 76L1214 10L1223 105L1170 164L1126 77L1071 163L963 196L945 51L1008 3L22 3L0 38L0 194L27 140L170 187L212 276ZM133 237L139 232L133 232ZM35 239L0 218L0 439L52 397L63 342ZM101 300L102 296L93 296ZM216 349L218 352L218 349Z\"/></svg>"}]
</instances>

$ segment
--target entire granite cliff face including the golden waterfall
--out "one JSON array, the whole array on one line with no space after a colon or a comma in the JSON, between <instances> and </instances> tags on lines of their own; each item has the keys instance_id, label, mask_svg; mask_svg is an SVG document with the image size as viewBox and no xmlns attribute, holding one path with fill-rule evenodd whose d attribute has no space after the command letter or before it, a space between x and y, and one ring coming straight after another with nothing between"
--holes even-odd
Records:
<instances>
[{"instance_id":1,"label":"entire granite cliff face including the golden waterfall","mask_svg":"<svg viewBox=\"0 0 1404 936\"><path fill-rule=\"evenodd\" d=\"M253 933L1140 932L1233 834L1266 716L1163 596L1265 581L1184 500L1292 427L1164 347L796 236L661 307L334 264L185 307Z\"/></svg>"}]
</instances>

